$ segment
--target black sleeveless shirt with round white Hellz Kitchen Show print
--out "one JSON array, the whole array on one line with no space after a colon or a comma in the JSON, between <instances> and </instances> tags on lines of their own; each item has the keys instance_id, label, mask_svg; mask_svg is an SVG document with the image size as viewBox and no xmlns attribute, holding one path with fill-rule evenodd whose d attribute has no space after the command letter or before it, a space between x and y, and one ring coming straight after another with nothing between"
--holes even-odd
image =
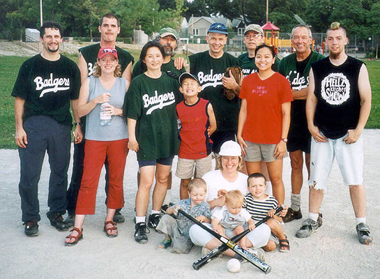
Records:
<instances>
[{"instance_id":1,"label":"black sleeveless shirt with round white Hellz Kitchen Show print","mask_svg":"<svg viewBox=\"0 0 380 279\"><path fill-rule=\"evenodd\" d=\"M358 77L362 65L362 61L351 56L340 66L334 66L328 57L312 63L318 100L314 125L329 139L343 137L358 125Z\"/></svg>"}]
</instances>

